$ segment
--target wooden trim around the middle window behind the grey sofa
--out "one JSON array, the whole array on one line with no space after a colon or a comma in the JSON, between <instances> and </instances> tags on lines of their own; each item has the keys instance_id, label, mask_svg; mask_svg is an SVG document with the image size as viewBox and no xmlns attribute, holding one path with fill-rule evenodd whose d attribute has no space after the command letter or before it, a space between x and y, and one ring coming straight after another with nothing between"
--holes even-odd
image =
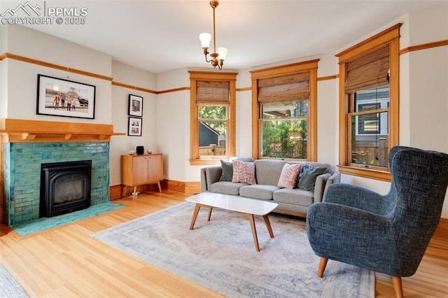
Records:
<instances>
[{"instance_id":1,"label":"wooden trim around the middle window behind the grey sofa","mask_svg":"<svg viewBox=\"0 0 448 298\"><path fill-rule=\"evenodd\" d=\"M252 79L252 157L261 157L260 140L260 105L258 104L258 80L286 76L293 73L309 71L309 123L308 123L308 159L317 161L317 63L320 59L298 62L283 66L250 71Z\"/></svg>"}]
</instances>

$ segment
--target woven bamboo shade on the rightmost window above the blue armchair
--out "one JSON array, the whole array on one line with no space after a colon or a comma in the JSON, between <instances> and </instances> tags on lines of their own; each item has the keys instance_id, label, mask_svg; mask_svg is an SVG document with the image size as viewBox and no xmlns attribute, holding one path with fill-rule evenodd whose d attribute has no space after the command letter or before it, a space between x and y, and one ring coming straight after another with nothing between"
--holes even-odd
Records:
<instances>
[{"instance_id":1,"label":"woven bamboo shade on the rightmost window above the blue armchair","mask_svg":"<svg viewBox=\"0 0 448 298\"><path fill-rule=\"evenodd\" d=\"M389 46L347 62L345 93L388 85Z\"/></svg>"}]
</instances>

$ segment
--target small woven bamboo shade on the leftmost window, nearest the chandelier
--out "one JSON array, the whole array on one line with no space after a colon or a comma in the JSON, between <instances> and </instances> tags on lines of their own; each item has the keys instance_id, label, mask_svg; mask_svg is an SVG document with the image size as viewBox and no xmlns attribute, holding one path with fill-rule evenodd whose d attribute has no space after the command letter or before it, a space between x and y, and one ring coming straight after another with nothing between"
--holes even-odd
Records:
<instances>
[{"instance_id":1,"label":"small woven bamboo shade on the leftmost window, nearest the chandelier","mask_svg":"<svg viewBox=\"0 0 448 298\"><path fill-rule=\"evenodd\" d=\"M230 103L230 82L208 82L198 80L196 83L196 104L219 104L228 106Z\"/></svg>"}]
</instances>

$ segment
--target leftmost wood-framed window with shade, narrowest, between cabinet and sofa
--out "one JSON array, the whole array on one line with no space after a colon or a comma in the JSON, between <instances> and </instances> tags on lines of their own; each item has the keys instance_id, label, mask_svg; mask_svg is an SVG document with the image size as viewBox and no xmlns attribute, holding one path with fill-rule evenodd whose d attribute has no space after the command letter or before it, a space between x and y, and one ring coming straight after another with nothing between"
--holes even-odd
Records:
<instances>
[{"instance_id":1,"label":"leftmost wood-framed window with shade, narrowest, between cabinet and sofa","mask_svg":"<svg viewBox=\"0 0 448 298\"><path fill-rule=\"evenodd\" d=\"M236 75L190 71L191 164L235 156Z\"/></svg>"}]
</instances>

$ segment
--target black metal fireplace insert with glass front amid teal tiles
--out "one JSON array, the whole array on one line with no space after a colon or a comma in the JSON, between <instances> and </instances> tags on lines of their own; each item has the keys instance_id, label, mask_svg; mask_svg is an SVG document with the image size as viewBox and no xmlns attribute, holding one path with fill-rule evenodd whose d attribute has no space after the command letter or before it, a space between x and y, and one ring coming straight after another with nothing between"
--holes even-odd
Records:
<instances>
[{"instance_id":1,"label":"black metal fireplace insert with glass front amid teal tiles","mask_svg":"<svg viewBox=\"0 0 448 298\"><path fill-rule=\"evenodd\" d=\"M91 160L41 164L39 218L51 218L88 208L91 173Z\"/></svg>"}]
</instances>

